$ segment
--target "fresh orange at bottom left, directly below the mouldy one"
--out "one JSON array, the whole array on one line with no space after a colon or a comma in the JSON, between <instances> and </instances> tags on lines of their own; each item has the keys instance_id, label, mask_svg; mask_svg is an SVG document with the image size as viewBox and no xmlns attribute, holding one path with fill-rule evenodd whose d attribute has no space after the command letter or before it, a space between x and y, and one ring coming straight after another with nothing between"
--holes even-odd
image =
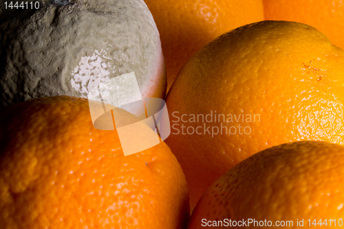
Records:
<instances>
[{"instance_id":1,"label":"fresh orange at bottom left, directly below the mouldy one","mask_svg":"<svg viewBox=\"0 0 344 229\"><path fill-rule=\"evenodd\" d=\"M185 228L182 168L164 142L124 156L88 102L56 96L13 105L0 124L1 228Z\"/></svg>"}]
</instances>

